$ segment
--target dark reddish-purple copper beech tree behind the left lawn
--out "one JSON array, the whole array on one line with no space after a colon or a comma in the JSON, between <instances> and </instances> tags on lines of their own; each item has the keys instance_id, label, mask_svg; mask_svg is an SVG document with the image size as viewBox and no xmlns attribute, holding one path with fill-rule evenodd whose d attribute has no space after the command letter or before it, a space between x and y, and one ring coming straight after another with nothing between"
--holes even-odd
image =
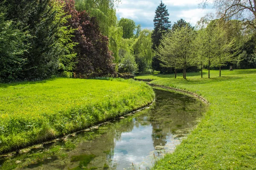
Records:
<instances>
[{"instance_id":1,"label":"dark reddish-purple copper beech tree behind the left lawn","mask_svg":"<svg viewBox=\"0 0 256 170\"><path fill-rule=\"evenodd\" d=\"M64 10L71 15L67 25L76 29L73 42L77 58L76 77L102 77L116 74L113 56L108 49L108 37L101 34L95 17L90 17L86 11L77 11L74 0L65 0Z\"/></svg>"}]
</instances>

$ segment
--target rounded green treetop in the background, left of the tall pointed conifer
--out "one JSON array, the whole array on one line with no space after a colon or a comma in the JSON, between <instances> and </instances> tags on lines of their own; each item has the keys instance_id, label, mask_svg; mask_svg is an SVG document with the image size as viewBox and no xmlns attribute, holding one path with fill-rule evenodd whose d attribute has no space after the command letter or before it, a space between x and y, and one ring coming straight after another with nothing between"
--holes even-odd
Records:
<instances>
[{"instance_id":1,"label":"rounded green treetop in the background, left of the tall pointed conifer","mask_svg":"<svg viewBox=\"0 0 256 170\"><path fill-rule=\"evenodd\" d=\"M129 39L134 37L134 31L136 28L134 20L128 18L121 18L118 22L118 26L122 27L123 30L123 38Z\"/></svg>"}]
</instances>

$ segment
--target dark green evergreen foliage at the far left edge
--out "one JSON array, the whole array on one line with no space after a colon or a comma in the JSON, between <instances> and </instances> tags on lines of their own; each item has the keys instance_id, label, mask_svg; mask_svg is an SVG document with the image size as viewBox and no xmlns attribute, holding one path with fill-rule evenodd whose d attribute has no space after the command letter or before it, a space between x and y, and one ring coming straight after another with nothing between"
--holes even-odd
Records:
<instances>
[{"instance_id":1,"label":"dark green evergreen foliage at the far left edge","mask_svg":"<svg viewBox=\"0 0 256 170\"><path fill-rule=\"evenodd\" d=\"M26 64L23 54L29 45L28 32L20 31L12 21L6 20L0 7L0 82L17 79Z\"/></svg>"}]
</instances>

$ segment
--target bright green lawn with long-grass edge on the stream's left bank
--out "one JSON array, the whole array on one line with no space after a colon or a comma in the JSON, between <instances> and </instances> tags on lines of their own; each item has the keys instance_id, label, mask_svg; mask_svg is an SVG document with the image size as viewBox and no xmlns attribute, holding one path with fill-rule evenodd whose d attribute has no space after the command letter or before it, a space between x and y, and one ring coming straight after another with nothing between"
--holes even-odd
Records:
<instances>
[{"instance_id":1,"label":"bright green lawn with long-grass edge on the stream's left bank","mask_svg":"<svg viewBox=\"0 0 256 170\"><path fill-rule=\"evenodd\" d=\"M153 100L153 89L134 80L0 84L0 153L105 122Z\"/></svg>"}]
</instances>

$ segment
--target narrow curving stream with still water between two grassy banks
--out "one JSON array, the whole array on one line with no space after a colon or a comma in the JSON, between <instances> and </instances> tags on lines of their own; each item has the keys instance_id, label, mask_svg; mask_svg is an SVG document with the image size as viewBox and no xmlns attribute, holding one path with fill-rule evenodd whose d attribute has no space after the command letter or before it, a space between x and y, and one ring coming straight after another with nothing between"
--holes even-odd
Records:
<instances>
[{"instance_id":1,"label":"narrow curving stream with still water between two grassy banks","mask_svg":"<svg viewBox=\"0 0 256 170\"><path fill-rule=\"evenodd\" d=\"M155 89L153 105L63 139L0 156L0 169L131 170L154 161L195 127L206 104L194 97Z\"/></svg>"}]
</instances>

